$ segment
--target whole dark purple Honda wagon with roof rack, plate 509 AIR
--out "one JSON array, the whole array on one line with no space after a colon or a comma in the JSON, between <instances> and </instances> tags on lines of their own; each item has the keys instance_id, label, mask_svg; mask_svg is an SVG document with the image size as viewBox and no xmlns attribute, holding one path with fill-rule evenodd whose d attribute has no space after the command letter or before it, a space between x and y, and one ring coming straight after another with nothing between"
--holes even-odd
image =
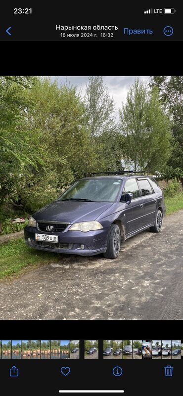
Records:
<instances>
[{"instance_id":1,"label":"whole dark purple Honda wagon with roof rack, plate 509 AIR","mask_svg":"<svg viewBox=\"0 0 183 396\"><path fill-rule=\"evenodd\" d=\"M24 228L26 244L53 253L103 253L116 259L121 241L145 229L162 230L166 207L153 177L130 171L99 174L79 179L34 213Z\"/></svg>"}]
</instances>

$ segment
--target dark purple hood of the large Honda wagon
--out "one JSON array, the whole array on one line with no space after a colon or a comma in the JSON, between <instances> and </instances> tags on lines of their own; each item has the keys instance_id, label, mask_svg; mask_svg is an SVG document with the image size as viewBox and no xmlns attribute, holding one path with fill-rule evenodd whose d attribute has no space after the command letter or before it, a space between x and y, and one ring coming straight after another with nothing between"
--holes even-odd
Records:
<instances>
[{"instance_id":1,"label":"dark purple hood of the large Honda wagon","mask_svg":"<svg viewBox=\"0 0 183 396\"><path fill-rule=\"evenodd\" d=\"M65 221L69 223L90 221L95 220L112 205L114 204L111 202L54 201L34 213L33 217L37 221Z\"/></svg>"}]
</instances>

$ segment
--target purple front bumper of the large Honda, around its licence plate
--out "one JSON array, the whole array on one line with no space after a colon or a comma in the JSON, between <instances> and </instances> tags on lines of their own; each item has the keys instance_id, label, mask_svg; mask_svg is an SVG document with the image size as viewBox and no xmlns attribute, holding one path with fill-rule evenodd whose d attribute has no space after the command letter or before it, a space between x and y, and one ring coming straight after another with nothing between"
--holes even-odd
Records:
<instances>
[{"instance_id":1,"label":"purple front bumper of the large Honda, around its licence plate","mask_svg":"<svg viewBox=\"0 0 183 396\"><path fill-rule=\"evenodd\" d=\"M35 234L38 232L40 234L51 234L50 232L38 231L36 227L28 225L24 228L26 244L38 250L80 256L93 256L106 252L108 228L89 232L68 230L54 232L53 235L58 235L58 243L36 241ZM28 238L30 238L29 241ZM81 249L81 245L84 245L84 249Z\"/></svg>"}]
</instances>

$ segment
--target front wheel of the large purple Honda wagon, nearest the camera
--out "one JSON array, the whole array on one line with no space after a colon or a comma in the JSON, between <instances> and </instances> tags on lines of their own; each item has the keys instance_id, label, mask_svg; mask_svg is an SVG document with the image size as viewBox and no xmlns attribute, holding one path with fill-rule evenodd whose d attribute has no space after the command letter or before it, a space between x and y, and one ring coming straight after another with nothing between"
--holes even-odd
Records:
<instances>
[{"instance_id":1,"label":"front wheel of the large purple Honda wagon, nearest the camera","mask_svg":"<svg viewBox=\"0 0 183 396\"><path fill-rule=\"evenodd\" d=\"M121 232L117 224L112 224L107 238L107 250L103 254L106 259L116 259L119 255Z\"/></svg>"}]
</instances>

